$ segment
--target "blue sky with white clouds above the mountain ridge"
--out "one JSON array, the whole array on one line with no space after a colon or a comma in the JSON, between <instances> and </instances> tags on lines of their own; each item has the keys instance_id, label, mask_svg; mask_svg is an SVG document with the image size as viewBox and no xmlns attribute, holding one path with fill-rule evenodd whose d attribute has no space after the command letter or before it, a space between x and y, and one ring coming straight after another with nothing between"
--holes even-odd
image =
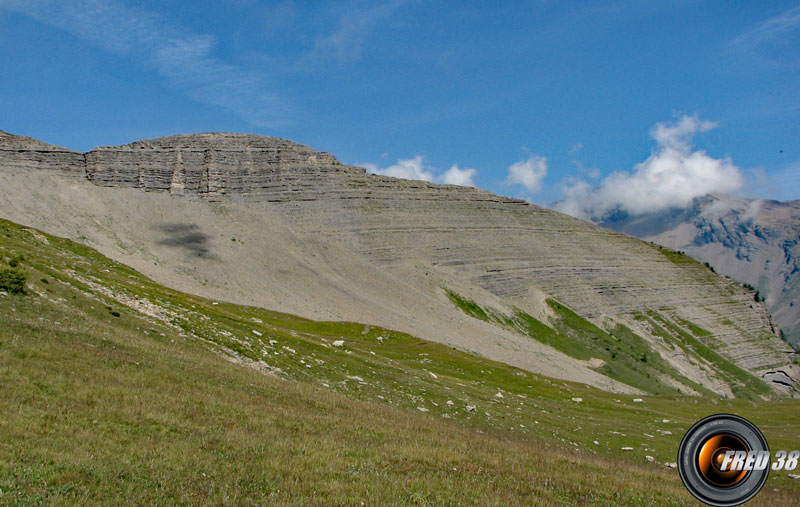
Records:
<instances>
[{"instance_id":1,"label":"blue sky with white clouds above the mountain ridge","mask_svg":"<svg viewBox=\"0 0 800 507\"><path fill-rule=\"evenodd\" d=\"M277 136L577 215L800 199L797 2L494 3L0 0L0 129Z\"/></svg>"}]
</instances>

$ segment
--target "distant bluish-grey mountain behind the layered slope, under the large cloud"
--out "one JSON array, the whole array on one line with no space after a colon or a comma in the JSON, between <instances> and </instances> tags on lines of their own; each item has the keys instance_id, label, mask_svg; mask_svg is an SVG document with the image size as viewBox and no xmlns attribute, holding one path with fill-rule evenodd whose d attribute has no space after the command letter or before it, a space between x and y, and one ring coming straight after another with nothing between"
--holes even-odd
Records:
<instances>
[{"instance_id":1,"label":"distant bluish-grey mountain behind the layered slope, under the large cloud","mask_svg":"<svg viewBox=\"0 0 800 507\"><path fill-rule=\"evenodd\" d=\"M686 209L616 212L597 223L685 251L752 285L783 337L800 347L800 201L706 195Z\"/></svg>"}]
</instances>

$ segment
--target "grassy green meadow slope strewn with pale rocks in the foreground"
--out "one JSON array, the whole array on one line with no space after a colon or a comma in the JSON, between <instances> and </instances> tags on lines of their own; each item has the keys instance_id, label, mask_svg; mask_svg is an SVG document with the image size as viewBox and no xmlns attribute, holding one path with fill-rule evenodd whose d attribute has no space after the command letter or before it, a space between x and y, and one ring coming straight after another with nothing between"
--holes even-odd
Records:
<instances>
[{"instance_id":1,"label":"grassy green meadow slope strewn with pale rocks in the foreground","mask_svg":"<svg viewBox=\"0 0 800 507\"><path fill-rule=\"evenodd\" d=\"M796 400L633 402L181 294L0 222L0 258L20 257L26 294L0 295L2 504L683 505L664 463L704 415L800 447ZM798 502L781 472L753 504Z\"/></svg>"}]
</instances>

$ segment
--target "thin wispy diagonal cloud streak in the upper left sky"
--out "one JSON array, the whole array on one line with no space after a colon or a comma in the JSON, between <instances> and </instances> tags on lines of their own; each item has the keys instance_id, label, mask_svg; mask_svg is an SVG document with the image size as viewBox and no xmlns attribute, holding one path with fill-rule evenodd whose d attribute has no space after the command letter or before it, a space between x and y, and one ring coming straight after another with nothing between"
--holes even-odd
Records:
<instances>
[{"instance_id":1,"label":"thin wispy diagonal cloud streak in the upper left sky","mask_svg":"<svg viewBox=\"0 0 800 507\"><path fill-rule=\"evenodd\" d=\"M258 126L287 114L263 74L212 56L213 36L119 0L0 0L0 8L68 31L90 44L154 68L167 82L202 103L221 107Z\"/></svg>"}]
</instances>

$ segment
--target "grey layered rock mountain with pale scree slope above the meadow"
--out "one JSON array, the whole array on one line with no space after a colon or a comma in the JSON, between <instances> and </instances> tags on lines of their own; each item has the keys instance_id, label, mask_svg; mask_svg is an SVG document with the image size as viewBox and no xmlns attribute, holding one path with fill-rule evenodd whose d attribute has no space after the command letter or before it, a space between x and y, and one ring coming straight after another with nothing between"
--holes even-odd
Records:
<instances>
[{"instance_id":1,"label":"grey layered rock mountain with pale scree slope above the meadow","mask_svg":"<svg viewBox=\"0 0 800 507\"><path fill-rule=\"evenodd\" d=\"M394 328L603 389L728 396L752 388L737 368L783 378L768 372L794 360L739 284L520 200L248 135L141 141L85 161L76 181L0 158L0 214L182 290ZM575 347L547 343L533 321Z\"/></svg>"}]
</instances>

